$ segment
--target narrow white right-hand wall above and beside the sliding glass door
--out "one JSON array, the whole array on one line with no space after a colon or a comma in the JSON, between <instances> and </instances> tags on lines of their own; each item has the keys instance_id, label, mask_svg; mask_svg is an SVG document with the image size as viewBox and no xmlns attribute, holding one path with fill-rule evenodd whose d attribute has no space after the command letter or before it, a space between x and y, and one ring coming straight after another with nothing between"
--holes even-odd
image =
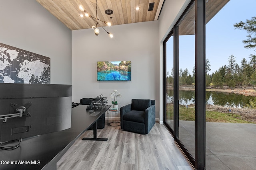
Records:
<instances>
[{"instance_id":1,"label":"narrow white right-hand wall above and beside the sliding glass door","mask_svg":"<svg viewBox=\"0 0 256 170\"><path fill-rule=\"evenodd\" d=\"M174 24L178 21L186 7L188 6L190 0L165 0L164 6L162 8L160 17L159 17L159 46L160 46L160 72L159 72L159 98L160 98L160 123L164 121L164 80L163 80L163 71L164 71L164 51L163 51L163 41L167 37L168 33L174 27Z\"/></svg>"}]
</instances>

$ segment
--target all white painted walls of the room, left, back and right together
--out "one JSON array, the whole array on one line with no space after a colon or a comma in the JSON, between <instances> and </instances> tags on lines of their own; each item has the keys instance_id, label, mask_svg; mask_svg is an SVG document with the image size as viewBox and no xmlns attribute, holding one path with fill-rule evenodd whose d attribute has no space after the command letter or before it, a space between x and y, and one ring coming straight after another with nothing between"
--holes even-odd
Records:
<instances>
[{"instance_id":1,"label":"all white painted walls of the room, left, back and right together","mask_svg":"<svg viewBox=\"0 0 256 170\"><path fill-rule=\"evenodd\" d=\"M132 98L156 100L156 117L163 121L162 41L189 2L166 0L158 21L107 27L114 34L110 39L103 29L99 36L92 29L72 31L71 38L71 31L35 0L1 0L0 42L50 57L51 84L72 82L74 102L103 94L111 103L110 93L117 89L120 106ZM132 61L132 81L97 82L97 61L111 60Z\"/></svg>"}]
</instances>

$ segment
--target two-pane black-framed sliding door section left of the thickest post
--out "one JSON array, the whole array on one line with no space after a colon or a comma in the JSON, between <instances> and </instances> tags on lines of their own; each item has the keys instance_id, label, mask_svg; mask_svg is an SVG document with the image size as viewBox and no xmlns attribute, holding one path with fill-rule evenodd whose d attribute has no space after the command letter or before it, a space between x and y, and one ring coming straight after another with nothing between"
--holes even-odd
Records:
<instances>
[{"instance_id":1,"label":"two-pane black-framed sliding door section left of the thickest post","mask_svg":"<svg viewBox=\"0 0 256 170\"><path fill-rule=\"evenodd\" d=\"M194 3L164 42L165 124L184 152L195 159L195 8Z\"/></svg>"}]
</instances>

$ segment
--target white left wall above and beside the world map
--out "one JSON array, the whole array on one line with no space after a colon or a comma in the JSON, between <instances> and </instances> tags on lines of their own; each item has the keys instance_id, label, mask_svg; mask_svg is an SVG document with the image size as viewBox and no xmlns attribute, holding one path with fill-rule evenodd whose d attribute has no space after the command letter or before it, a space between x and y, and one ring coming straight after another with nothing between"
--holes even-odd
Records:
<instances>
[{"instance_id":1,"label":"white left wall above and beside the world map","mask_svg":"<svg viewBox=\"0 0 256 170\"><path fill-rule=\"evenodd\" d=\"M71 31L36 0L0 1L0 42L51 59L51 84L71 84Z\"/></svg>"}]
</instances>

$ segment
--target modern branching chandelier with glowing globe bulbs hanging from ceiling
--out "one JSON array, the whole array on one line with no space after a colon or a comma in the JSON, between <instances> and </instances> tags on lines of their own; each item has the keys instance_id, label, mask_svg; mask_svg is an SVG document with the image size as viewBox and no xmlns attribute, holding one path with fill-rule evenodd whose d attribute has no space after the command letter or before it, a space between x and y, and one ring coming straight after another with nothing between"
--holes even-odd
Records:
<instances>
[{"instance_id":1,"label":"modern branching chandelier with glowing globe bulbs hanging from ceiling","mask_svg":"<svg viewBox=\"0 0 256 170\"><path fill-rule=\"evenodd\" d=\"M98 29L98 26L102 27L100 25L99 21L105 23L109 27L111 26L111 22L106 22L106 21L102 21L102 20L98 19L98 0L96 0L96 18L91 16L90 14L88 14L88 12L84 9L84 7L82 5L79 6L79 9L82 12L84 12L84 14L80 14L80 17L84 17L84 16L90 17L90 18L92 18L92 20L94 20L96 22L96 26L92 25L92 29L94 29L95 35L99 35L99 33L100 33L100 30ZM104 29L104 28L102 27L102 29ZM108 33L110 38L113 38L113 34L112 33L108 32L106 29L104 29L104 30Z\"/></svg>"}]
</instances>

